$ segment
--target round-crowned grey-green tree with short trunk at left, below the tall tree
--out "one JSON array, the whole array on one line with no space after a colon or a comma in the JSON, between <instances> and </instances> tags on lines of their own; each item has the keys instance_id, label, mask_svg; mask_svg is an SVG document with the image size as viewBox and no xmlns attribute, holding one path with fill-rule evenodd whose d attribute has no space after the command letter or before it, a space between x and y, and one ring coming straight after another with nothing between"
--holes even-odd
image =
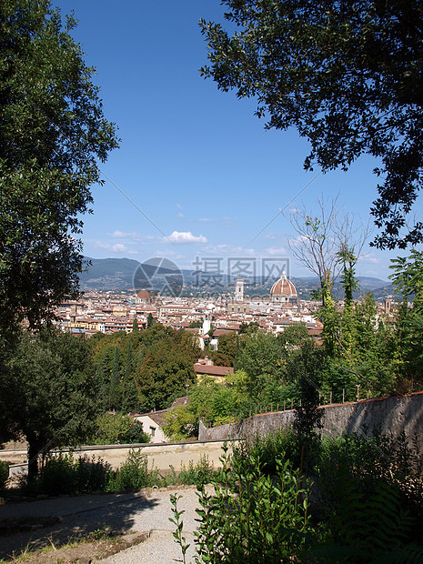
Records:
<instances>
[{"instance_id":1,"label":"round-crowned grey-green tree with short trunk at left, below the tall tree","mask_svg":"<svg viewBox=\"0 0 423 564\"><path fill-rule=\"evenodd\" d=\"M25 437L28 475L33 478L40 453L75 445L92 435L96 415L105 408L98 401L100 382L86 342L50 331L37 337L23 334L1 371L13 398L0 398L8 425L0 432L3 439L7 434ZM5 406L6 401L10 405Z\"/></svg>"}]
</instances>

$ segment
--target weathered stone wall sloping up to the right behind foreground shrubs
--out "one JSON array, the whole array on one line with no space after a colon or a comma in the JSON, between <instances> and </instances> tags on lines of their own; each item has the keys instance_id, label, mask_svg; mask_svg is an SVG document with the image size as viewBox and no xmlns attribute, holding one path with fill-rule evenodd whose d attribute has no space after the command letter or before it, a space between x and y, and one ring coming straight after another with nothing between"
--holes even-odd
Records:
<instances>
[{"instance_id":1,"label":"weathered stone wall sloping up to the right behind foreground shrubs","mask_svg":"<svg viewBox=\"0 0 423 564\"><path fill-rule=\"evenodd\" d=\"M404 431L411 439L415 435L423 448L423 392L401 398L363 399L325 406L323 410L323 435L365 432L378 428L390 432L394 438ZM277 428L287 427L294 419L294 411L266 413L215 428L200 426L199 440L226 440L267 434Z\"/></svg>"}]
</instances>

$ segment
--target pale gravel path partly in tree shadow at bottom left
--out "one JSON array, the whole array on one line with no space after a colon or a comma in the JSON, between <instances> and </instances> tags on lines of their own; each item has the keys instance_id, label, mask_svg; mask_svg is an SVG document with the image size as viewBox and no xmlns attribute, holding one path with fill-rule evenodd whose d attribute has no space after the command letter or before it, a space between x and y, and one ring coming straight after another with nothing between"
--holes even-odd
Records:
<instances>
[{"instance_id":1,"label":"pale gravel path partly in tree shadow at bottom left","mask_svg":"<svg viewBox=\"0 0 423 564\"><path fill-rule=\"evenodd\" d=\"M124 550L114 557L104 560L113 562L171 563L181 558L181 551L172 536L175 526L169 521L172 517L170 496L179 494L178 509L183 515L184 535L192 544L188 561L194 554L193 531L196 529L196 508L198 501L196 488L136 492L134 494L115 494L110 496L83 496L70 499L50 499L2 507L0 519L35 519L55 516L60 522L44 529L17 532L0 537L0 559L13 553L18 554L26 546L39 549L50 544L50 539L60 545L67 539L85 535L91 531L110 532L150 532L145 543Z\"/></svg>"}]
</instances>

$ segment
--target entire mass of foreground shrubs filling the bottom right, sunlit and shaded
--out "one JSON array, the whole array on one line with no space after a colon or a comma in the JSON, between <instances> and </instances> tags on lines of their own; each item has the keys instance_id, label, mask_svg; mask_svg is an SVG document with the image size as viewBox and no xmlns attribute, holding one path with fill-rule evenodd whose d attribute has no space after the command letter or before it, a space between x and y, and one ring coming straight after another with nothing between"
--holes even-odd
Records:
<instances>
[{"instance_id":1,"label":"entire mass of foreground shrubs filling the bottom right, sunlit and shaded","mask_svg":"<svg viewBox=\"0 0 423 564\"><path fill-rule=\"evenodd\" d=\"M285 429L224 448L214 488L199 488L200 562L420 562L421 452L405 438L351 435L314 441ZM180 496L174 537L186 562Z\"/></svg>"}]
</instances>

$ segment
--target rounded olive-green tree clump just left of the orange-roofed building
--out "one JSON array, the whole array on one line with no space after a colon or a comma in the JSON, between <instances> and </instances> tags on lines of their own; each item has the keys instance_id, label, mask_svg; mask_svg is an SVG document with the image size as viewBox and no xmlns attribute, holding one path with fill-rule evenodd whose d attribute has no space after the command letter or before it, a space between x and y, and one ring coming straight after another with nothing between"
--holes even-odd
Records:
<instances>
[{"instance_id":1,"label":"rounded olive-green tree clump just left of the orange-roofed building","mask_svg":"<svg viewBox=\"0 0 423 564\"><path fill-rule=\"evenodd\" d=\"M156 323L129 335L96 335L90 346L107 408L126 413L169 408L196 381L193 364L200 350L183 330Z\"/></svg>"}]
</instances>

